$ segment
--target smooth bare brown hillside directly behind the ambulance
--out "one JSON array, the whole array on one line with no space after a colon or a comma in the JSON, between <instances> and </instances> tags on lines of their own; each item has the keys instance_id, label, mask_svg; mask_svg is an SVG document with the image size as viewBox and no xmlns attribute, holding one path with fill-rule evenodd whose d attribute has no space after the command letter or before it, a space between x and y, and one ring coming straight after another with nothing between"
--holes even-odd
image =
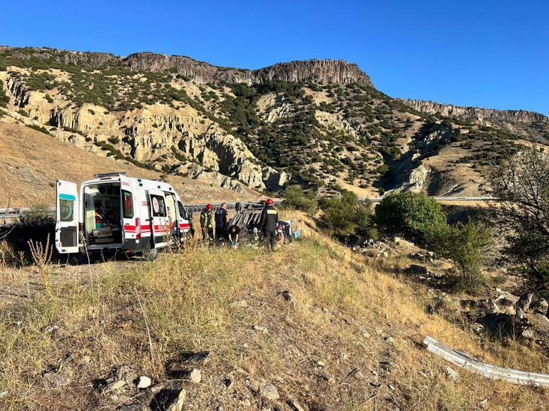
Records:
<instances>
[{"instance_id":1,"label":"smooth bare brown hillside directly behind the ambulance","mask_svg":"<svg viewBox=\"0 0 549 411\"><path fill-rule=\"evenodd\" d=\"M184 202L256 200L257 192L240 184L240 192L223 189L213 177L198 180L163 176L159 172L87 152L56 138L14 123L0 122L0 207L55 204L56 180L82 182L98 172L126 172L130 177L165 178Z\"/></svg>"}]
</instances>

